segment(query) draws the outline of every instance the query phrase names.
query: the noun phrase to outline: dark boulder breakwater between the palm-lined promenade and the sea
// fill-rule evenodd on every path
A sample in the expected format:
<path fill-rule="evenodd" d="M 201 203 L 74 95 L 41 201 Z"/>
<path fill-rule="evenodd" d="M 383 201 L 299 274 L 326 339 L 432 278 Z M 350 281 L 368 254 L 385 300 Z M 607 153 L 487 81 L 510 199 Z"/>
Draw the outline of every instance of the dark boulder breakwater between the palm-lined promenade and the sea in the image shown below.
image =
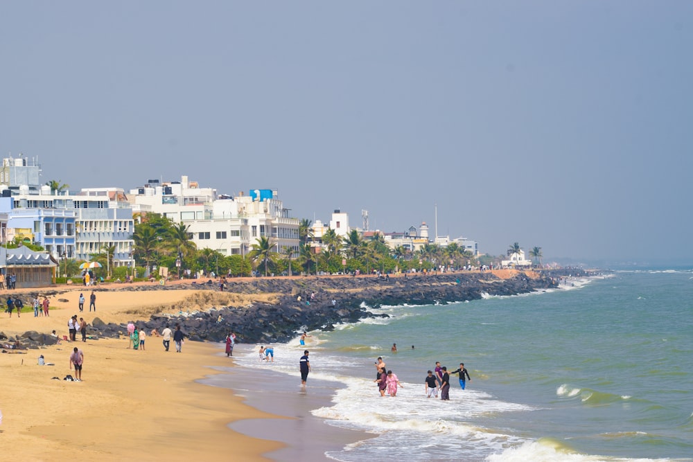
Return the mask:
<path fill-rule="evenodd" d="M 573 276 L 580 276 L 578 271 Z M 481 299 L 484 294 L 516 295 L 556 287 L 558 278 L 542 274 L 511 272 L 460 272 L 392 278 L 376 276 L 308 276 L 295 278 L 254 278 L 229 280 L 226 290 L 236 294 L 274 294 L 272 302 L 253 302 L 239 306 L 207 306 L 193 312 L 157 314 L 147 321 L 136 321 L 137 328 L 147 332 L 163 330 L 176 324 L 186 337 L 196 341 L 222 341 L 227 333 L 236 332 L 240 343 L 274 343 L 295 338 L 301 330 L 331 330 L 335 324 L 356 322 L 374 317 L 370 308 L 381 305 L 435 305 Z M 109 290 L 177 290 L 176 286 L 119 286 Z M 198 283 L 199 290 L 218 290 L 218 284 Z M 380 315 L 378 315 L 380 316 Z M 387 315 L 383 315 L 387 316 Z M 94 319 L 87 333 L 90 337 L 127 335 L 125 324 L 105 323 Z M 37 348 L 52 339 L 44 335 L 24 337 L 24 345 Z M 36 341 L 31 341 L 34 339 Z"/>

